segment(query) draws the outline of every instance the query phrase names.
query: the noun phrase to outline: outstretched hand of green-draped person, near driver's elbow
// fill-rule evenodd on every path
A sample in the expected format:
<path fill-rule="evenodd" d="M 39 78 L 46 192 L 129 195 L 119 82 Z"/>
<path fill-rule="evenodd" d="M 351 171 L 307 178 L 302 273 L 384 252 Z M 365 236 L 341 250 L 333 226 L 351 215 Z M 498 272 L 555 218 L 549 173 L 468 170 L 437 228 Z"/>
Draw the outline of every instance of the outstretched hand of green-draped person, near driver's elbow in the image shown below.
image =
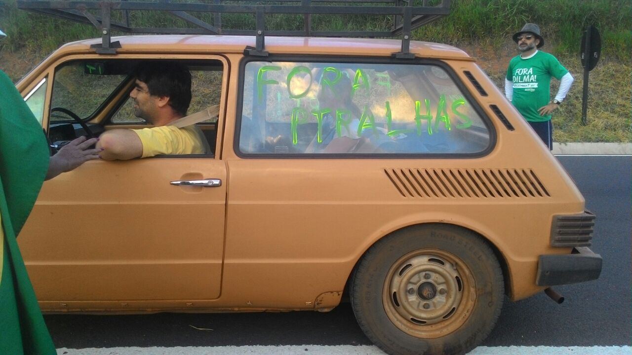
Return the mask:
<path fill-rule="evenodd" d="M 51 157 L 46 179 L 52 179 L 62 172 L 71 171 L 88 160 L 100 159 L 99 153 L 102 149 L 88 149 L 95 145 L 98 140 L 99 138 L 87 140 L 82 136 L 64 145 L 59 149 L 59 152 Z"/>

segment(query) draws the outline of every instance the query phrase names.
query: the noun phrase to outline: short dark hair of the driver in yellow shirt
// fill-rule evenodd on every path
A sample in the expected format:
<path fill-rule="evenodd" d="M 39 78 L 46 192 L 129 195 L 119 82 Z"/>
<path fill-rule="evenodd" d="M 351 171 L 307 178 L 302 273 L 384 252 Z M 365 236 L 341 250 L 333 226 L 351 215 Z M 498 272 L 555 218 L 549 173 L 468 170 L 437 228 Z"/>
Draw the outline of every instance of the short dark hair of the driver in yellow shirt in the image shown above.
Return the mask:
<path fill-rule="evenodd" d="M 173 110 L 186 116 L 191 104 L 191 73 L 185 66 L 173 61 L 143 61 L 133 75 L 147 84 L 150 95 L 169 97 Z"/>

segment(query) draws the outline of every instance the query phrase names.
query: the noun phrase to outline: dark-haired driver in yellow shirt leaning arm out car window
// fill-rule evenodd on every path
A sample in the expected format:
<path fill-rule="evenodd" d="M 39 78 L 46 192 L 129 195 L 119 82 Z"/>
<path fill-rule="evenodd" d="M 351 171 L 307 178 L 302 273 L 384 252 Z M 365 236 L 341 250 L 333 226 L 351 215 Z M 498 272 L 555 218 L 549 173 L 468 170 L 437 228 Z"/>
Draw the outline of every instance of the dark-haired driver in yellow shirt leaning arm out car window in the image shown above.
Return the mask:
<path fill-rule="evenodd" d="M 185 66 L 168 61 L 141 63 L 134 73 L 130 92 L 134 115 L 152 128 L 111 129 L 99 137 L 101 159 L 128 160 L 158 154 L 205 154 L 208 143 L 195 126 L 177 128 L 167 124 L 186 116 L 191 103 L 191 73 Z"/>

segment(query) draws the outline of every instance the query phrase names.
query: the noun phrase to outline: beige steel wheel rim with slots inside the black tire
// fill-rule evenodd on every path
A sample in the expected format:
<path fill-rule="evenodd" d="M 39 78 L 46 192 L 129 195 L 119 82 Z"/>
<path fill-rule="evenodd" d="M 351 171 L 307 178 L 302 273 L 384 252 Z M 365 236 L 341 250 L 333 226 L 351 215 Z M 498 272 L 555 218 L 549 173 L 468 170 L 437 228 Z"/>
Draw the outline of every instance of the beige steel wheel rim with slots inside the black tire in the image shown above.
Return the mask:
<path fill-rule="evenodd" d="M 391 322 L 406 334 L 424 339 L 456 331 L 477 301 L 470 268 L 438 249 L 420 249 L 399 258 L 382 290 L 382 304 Z"/>

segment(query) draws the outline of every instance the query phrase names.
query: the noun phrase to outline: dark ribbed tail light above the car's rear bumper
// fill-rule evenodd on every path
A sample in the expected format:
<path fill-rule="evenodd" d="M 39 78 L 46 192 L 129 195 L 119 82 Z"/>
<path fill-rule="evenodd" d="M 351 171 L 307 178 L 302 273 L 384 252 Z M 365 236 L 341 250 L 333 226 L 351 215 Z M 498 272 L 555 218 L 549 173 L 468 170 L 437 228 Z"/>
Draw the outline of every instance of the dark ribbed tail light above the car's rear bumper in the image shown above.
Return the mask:
<path fill-rule="evenodd" d="M 590 246 L 595 215 L 590 211 L 575 215 L 555 215 L 551 224 L 551 246 Z"/>

